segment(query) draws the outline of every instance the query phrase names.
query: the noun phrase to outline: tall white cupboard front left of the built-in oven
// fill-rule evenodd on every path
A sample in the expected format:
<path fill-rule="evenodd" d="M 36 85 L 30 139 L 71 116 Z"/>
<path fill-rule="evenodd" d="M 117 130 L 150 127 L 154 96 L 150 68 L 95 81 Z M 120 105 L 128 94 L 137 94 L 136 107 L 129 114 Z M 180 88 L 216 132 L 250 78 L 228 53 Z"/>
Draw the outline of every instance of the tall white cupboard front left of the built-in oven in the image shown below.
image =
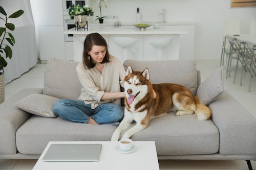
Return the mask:
<path fill-rule="evenodd" d="M 1 0 L 0 0 L 1 1 Z M 62 0 L 30 0 L 36 26 L 37 55 L 65 59 Z"/>

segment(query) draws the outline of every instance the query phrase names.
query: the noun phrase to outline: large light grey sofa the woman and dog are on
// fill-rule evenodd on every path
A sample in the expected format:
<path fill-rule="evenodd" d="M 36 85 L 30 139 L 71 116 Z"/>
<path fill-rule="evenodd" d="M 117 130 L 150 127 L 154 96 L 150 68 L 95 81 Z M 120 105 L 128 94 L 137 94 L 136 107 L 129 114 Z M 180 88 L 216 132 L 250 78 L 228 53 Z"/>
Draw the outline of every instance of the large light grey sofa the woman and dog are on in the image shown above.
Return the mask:
<path fill-rule="evenodd" d="M 0 105 L 0 159 L 37 159 L 49 141 L 111 140 L 116 125 L 73 123 L 59 116 L 33 115 L 15 106 L 32 93 L 76 99 L 81 88 L 77 64 L 49 60 L 44 89 L 24 89 Z M 194 94 L 200 85 L 200 71 L 192 60 L 127 60 L 124 65 L 132 65 L 134 70 L 148 67 L 152 83 L 179 83 Z M 208 106 L 210 120 L 199 121 L 195 114 L 169 113 L 153 119 L 132 139 L 154 140 L 159 159 L 256 160 L 255 118 L 226 91 Z"/>

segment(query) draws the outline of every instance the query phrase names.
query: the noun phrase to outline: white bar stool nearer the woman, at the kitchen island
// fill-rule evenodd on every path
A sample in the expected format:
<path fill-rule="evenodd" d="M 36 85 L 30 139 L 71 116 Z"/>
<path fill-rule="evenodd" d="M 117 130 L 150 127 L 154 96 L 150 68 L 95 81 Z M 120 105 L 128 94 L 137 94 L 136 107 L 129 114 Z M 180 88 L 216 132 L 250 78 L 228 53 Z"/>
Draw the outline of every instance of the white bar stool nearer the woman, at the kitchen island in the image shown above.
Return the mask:
<path fill-rule="evenodd" d="M 129 52 L 130 48 L 132 49 L 132 47 L 139 40 L 137 38 L 131 38 L 131 37 L 114 37 L 114 38 L 112 38 L 112 41 L 114 42 L 114 44 L 116 44 L 117 46 L 122 48 L 123 60 L 125 61 L 128 59 L 128 52 Z"/>

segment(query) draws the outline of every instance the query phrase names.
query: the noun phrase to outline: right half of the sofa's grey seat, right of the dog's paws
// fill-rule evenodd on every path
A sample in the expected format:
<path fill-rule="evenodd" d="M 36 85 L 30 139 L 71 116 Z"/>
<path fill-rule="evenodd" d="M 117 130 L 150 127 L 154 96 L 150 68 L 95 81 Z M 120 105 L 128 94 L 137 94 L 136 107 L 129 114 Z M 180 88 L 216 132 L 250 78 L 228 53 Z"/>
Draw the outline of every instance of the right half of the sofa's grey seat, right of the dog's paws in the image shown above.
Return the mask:
<path fill-rule="evenodd" d="M 151 120 L 133 140 L 154 140 L 157 155 L 214 154 L 219 150 L 219 130 L 211 120 L 198 121 L 195 114 L 169 113 Z"/>

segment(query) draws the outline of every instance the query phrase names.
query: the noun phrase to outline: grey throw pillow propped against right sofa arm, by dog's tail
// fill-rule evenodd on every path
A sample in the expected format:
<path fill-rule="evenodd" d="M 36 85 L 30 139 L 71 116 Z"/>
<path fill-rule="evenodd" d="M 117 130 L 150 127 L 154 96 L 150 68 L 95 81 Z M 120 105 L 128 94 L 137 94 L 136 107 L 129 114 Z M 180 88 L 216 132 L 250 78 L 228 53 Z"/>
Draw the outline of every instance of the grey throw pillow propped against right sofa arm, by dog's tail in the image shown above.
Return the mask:
<path fill-rule="evenodd" d="M 208 76 L 197 89 L 197 96 L 204 105 L 211 102 L 224 91 L 223 83 L 223 66 L 217 68 L 210 76 Z"/>

